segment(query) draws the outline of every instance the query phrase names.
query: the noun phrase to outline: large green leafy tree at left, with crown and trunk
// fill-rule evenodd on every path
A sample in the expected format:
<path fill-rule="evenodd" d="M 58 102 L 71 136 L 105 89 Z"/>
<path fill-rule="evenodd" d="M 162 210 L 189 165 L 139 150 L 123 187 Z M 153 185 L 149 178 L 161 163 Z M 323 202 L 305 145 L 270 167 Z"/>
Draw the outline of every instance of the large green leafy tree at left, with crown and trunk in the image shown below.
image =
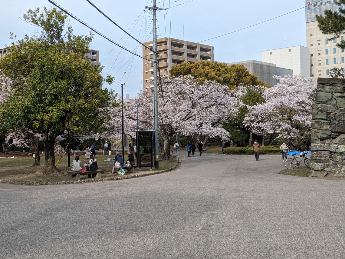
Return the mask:
<path fill-rule="evenodd" d="M 93 38 L 75 36 L 66 27 L 67 15 L 55 8 L 28 10 L 23 20 L 42 28 L 38 37 L 24 36 L 0 58 L 0 69 L 12 80 L 12 94 L 0 104 L 1 130 L 26 129 L 42 134 L 45 166 L 57 173 L 54 143 L 58 135 L 102 132 L 109 121 L 106 104 L 114 94 L 102 87 L 102 68 L 86 59 Z M 111 83 L 113 78 L 108 77 Z M 108 107 L 107 107 L 108 108 Z"/>

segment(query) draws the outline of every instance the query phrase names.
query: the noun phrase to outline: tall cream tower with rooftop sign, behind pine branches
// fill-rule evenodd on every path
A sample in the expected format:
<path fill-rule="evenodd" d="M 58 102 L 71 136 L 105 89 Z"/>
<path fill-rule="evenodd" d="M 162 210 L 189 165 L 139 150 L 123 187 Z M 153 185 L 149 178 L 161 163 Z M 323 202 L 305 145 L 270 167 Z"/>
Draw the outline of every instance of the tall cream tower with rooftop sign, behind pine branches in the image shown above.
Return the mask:
<path fill-rule="evenodd" d="M 306 0 L 307 47 L 310 50 L 310 75 L 312 77 L 328 77 L 329 69 L 345 67 L 344 49 L 336 47 L 336 43 L 345 35 L 334 40 L 332 35 L 324 35 L 317 27 L 316 15 L 324 15 L 330 9 L 337 11 L 336 0 Z"/>

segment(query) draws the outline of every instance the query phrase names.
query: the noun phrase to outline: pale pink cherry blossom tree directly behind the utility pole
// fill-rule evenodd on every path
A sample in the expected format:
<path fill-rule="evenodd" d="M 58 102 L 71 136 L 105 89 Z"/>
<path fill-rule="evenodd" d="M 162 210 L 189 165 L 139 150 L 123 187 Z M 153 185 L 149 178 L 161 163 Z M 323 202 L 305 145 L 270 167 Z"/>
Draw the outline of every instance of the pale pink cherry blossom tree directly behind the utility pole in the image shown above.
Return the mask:
<path fill-rule="evenodd" d="M 138 113 L 137 113 L 138 109 Z M 237 98 L 230 96 L 226 85 L 215 81 L 198 82 L 191 76 L 163 77 L 158 92 L 158 134 L 160 159 L 170 157 L 170 142 L 177 133 L 186 136 L 208 135 L 229 140 L 229 133 L 222 124 L 238 110 Z M 144 89 L 138 97 L 124 107 L 125 132 L 136 136 L 137 116 L 139 130 L 153 128 L 152 92 Z M 112 124 L 121 133 L 121 109 L 113 111 Z"/>

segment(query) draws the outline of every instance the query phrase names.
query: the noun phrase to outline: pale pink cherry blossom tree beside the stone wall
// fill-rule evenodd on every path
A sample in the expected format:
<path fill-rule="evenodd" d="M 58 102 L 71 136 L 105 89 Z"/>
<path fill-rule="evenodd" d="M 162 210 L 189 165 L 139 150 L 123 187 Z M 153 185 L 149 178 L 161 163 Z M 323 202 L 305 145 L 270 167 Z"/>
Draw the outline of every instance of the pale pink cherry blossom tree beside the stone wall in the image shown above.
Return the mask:
<path fill-rule="evenodd" d="M 279 83 L 267 88 L 265 103 L 247 106 L 249 112 L 244 124 L 253 133 L 279 133 L 276 139 L 289 140 L 310 138 L 311 110 L 316 84 L 310 77 L 287 75 L 275 76 Z"/>

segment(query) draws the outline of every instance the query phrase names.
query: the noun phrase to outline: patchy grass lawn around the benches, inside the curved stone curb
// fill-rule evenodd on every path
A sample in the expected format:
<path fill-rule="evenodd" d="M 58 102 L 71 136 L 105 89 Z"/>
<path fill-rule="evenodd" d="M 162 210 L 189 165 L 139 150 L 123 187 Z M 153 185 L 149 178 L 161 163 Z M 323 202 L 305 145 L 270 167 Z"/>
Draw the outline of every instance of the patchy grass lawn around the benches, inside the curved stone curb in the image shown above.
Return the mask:
<path fill-rule="evenodd" d="M 5 156 L 5 155 L 2 155 Z M 6 155 L 6 157 L 12 156 Z M 16 156 L 16 155 L 14 155 Z M 109 177 L 116 177 L 118 175 L 109 175 L 112 170 L 112 165 L 114 161 L 104 161 L 108 157 L 114 158 L 114 155 L 111 156 L 103 156 L 103 155 L 96 155 L 96 160 L 99 169 L 105 169 L 105 173 L 101 174 L 101 178 L 109 178 Z M 125 161 L 127 160 L 128 156 L 125 154 Z M 55 157 L 55 162 L 57 162 L 59 156 Z M 75 156 L 71 156 L 71 164 L 72 161 L 75 159 Z M 85 163 L 85 155 L 81 156 L 82 164 Z M 152 171 L 161 171 L 165 169 L 169 169 L 174 166 L 177 162 L 175 156 L 171 156 L 170 160 L 168 161 L 159 161 L 159 169 L 152 169 Z M 0 180 L 11 180 L 11 181 L 19 181 L 19 182 L 61 182 L 61 181 L 70 181 L 71 177 L 67 175 L 67 171 L 70 170 L 67 167 L 67 156 L 63 156 L 57 165 L 57 169 L 60 170 L 60 176 L 53 176 L 53 175 L 36 175 L 35 172 L 43 167 L 44 165 L 44 157 L 40 157 L 40 164 L 41 166 L 32 167 L 34 163 L 33 157 L 17 157 L 17 158 L 6 158 L 0 159 Z M 147 171 L 151 171 L 150 168 L 141 168 L 139 170 L 134 170 L 134 173 L 129 174 L 126 173 L 125 175 L 133 175 L 133 174 L 140 174 L 145 173 Z M 81 179 L 87 179 L 88 175 L 81 175 Z"/>

